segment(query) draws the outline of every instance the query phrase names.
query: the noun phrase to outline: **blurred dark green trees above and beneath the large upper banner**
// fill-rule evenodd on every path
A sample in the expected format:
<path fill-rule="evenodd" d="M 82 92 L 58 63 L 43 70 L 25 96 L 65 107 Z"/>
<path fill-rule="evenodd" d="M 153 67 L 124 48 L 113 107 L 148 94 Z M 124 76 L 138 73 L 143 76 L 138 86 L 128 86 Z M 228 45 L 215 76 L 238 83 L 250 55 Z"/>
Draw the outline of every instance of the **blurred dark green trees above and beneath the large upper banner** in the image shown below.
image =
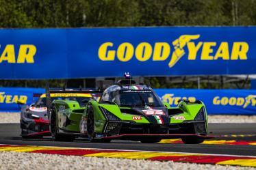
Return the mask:
<path fill-rule="evenodd" d="M 255 0 L 0 0 L 0 28 L 256 25 Z M 154 87 L 172 87 L 152 79 Z M 44 81 L 0 86 L 41 87 Z M 56 81 L 63 84 L 62 81 Z M 29 83 L 29 85 L 27 85 Z M 164 86 L 163 86 L 164 85 Z M 185 87 L 194 87 L 190 83 Z M 219 88 L 220 85 L 214 85 Z M 202 88 L 209 85 L 202 84 Z"/>

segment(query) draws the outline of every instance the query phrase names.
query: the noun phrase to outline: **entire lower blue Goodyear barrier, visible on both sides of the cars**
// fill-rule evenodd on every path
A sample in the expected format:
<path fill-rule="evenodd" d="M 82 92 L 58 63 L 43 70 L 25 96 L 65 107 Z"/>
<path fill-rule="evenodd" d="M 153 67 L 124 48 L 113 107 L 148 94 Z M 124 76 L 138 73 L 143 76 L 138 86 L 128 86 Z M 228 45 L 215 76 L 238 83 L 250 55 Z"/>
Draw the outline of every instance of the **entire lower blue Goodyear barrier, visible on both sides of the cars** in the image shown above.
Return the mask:
<path fill-rule="evenodd" d="M 175 107 L 180 99 L 202 100 L 211 114 L 256 115 L 256 90 L 238 89 L 155 89 L 159 97 Z M 0 112 L 19 111 L 17 100 L 33 103 L 34 93 L 44 93 L 36 88 L 0 87 Z"/>

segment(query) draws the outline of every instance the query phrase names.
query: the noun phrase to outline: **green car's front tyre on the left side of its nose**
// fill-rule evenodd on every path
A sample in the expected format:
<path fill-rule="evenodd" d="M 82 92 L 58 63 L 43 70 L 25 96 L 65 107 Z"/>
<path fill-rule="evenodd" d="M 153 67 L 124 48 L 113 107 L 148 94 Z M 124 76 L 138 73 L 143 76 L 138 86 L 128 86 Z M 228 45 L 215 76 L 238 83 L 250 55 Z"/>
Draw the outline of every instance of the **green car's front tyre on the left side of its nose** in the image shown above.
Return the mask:
<path fill-rule="evenodd" d="M 110 143 L 111 139 L 95 139 L 95 132 L 94 132 L 94 113 L 92 105 L 88 106 L 88 117 L 87 117 L 87 132 L 88 138 L 90 142 L 94 143 Z"/>

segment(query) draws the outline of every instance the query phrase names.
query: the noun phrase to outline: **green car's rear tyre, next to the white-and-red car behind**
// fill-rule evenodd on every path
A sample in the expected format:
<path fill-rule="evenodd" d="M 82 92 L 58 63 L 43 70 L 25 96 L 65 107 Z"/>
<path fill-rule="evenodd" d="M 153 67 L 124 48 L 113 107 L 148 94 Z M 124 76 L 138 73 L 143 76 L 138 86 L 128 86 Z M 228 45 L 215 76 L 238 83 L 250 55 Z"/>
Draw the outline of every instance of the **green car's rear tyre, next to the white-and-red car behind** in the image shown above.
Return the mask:
<path fill-rule="evenodd" d="M 50 119 L 50 130 L 51 130 L 51 137 L 54 141 L 67 141 L 71 142 L 75 140 L 74 136 L 66 135 L 66 134 L 59 134 L 57 131 L 57 121 L 56 121 L 56 113 L 53 109 L 51 109 L 51 119 Z"/>

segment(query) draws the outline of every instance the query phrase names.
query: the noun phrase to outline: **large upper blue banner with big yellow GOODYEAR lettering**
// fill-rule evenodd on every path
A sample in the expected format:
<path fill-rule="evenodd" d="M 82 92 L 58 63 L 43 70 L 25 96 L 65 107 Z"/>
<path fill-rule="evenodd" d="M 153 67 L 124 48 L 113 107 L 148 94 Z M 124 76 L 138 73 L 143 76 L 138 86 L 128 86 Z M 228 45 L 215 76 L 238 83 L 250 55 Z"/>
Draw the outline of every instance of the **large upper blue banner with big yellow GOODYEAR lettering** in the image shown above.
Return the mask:
<path fill-rule="evenodd" d="M 256 74 L 256 27 L 1 29 L 0 79 Z"/>

